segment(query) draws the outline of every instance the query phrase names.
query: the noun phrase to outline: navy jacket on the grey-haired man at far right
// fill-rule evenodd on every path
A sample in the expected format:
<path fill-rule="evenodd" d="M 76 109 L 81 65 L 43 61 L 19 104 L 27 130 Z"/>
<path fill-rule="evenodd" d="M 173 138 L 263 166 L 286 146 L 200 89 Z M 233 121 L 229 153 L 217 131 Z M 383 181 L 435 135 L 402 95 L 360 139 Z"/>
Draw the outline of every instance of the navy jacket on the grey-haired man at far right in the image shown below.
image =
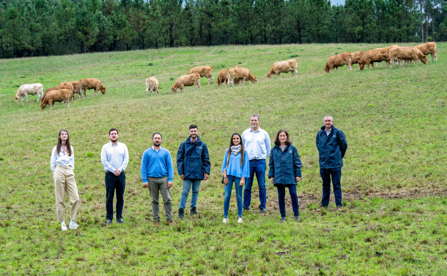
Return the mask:
<path fill-rule="evenodd" d="M 318 149 L 320 168 L 336 168 L 343 166 L 343 157 L 345 156 L 348 143 L 343 131 L 331 127 L 331 134 L 326 135 L 324 125 L 318 131 L 315 139 Z"/>

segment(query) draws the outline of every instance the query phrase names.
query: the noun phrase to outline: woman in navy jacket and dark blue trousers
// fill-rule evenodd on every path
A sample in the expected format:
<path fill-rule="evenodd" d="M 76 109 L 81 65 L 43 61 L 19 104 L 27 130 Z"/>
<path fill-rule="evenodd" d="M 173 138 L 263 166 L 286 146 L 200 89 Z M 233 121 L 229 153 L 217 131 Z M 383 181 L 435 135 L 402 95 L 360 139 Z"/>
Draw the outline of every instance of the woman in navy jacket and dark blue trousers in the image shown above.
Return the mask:
<path fill-rule="evenodd" d="M 289 187 L 295 220 L 299 221 L 297 183 L 301 180 L 301 166 L 297 148 L 290 142 L 289 132 L 280 129 L 276 134 L 275 146 L 270 152 L 269 162 L 270 182 L 278 189 L 280 222 L 286 221 L 286 187 Z"/>

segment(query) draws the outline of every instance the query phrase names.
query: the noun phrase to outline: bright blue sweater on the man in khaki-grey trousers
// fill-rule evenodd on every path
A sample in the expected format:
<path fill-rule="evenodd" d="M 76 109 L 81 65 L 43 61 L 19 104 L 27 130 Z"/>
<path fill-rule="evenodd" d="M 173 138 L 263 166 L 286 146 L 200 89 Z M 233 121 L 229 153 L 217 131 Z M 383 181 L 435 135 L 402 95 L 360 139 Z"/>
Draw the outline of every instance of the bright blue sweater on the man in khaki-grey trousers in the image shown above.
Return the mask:
<path fill-rule="evenodd" d="M 171 154 L 168 150 L 160 148 L 158 152 L 150 147 L 143 153 L 141 160 L 141 178 L 143 183 L 148 182 L 148 177 L 165 177 L 172 182 L 174 178 L 174 167 L 172 166 Z"/>

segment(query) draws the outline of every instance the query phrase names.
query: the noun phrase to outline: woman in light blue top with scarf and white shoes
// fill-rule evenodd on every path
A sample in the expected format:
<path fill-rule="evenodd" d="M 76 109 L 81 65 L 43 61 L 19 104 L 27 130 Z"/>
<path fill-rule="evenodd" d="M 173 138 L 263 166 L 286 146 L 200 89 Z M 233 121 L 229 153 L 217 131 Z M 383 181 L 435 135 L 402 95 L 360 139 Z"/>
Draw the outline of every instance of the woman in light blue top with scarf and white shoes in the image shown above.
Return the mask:
<path fill-rule="evenodd" d="M 248 164 L 248 153 L 244 151 L 242 137 L 239 133 L 233 133 L 230 139 L 229 148 L 226 149 L 224 163 L 225 198 L 224 198 L 224 223 L 228 222 L 228 208 L 231 198 L 231 190 L 236 190 L 238 223 L 242 223 L 242 191 L 244 189 L 244 178 L 250 176 L 250 166 Z"/>

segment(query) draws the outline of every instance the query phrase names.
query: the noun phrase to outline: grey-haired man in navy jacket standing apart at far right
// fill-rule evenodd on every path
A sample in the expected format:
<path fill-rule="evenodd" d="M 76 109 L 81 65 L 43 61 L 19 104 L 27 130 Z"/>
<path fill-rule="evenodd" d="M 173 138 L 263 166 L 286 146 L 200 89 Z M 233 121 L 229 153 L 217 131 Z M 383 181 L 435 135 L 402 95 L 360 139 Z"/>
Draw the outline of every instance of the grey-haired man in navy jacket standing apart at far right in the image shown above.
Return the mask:
<path fill-rule="evenodd" d="M 329 204 L 329 196 L 331 194 L 331 179 L 334 186 L 335 204 L 337 211 L 342 210 L 342 193 L 340 186 L 341 168 L 343 166 L 343 157 L 345 156 L 348 144 L 343 131 L 334 126 L 334 120 L 330 115 L 324 116 L 324 125 L 316 136 L 316 146 L 319 155 L 320 175 L 323 180 L 323 197 L 321 206 L 316 212 L 320 212 L 321 208 L 327 207 Z"/>

